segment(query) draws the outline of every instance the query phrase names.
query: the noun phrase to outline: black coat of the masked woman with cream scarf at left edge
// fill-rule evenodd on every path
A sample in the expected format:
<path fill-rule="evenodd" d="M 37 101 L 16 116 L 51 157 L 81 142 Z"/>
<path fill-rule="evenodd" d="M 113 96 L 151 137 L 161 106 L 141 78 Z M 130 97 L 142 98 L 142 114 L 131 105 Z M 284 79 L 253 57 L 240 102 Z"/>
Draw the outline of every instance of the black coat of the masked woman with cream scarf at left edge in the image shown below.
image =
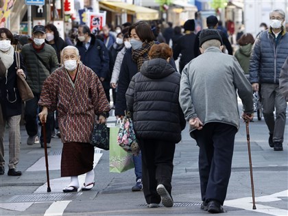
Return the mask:
<path fill-rule="evenodd" d="M 16 57 L 14 53 L 14 62 L 8 69 L 7 77 L 0 78 L 0 103 L 3 118 L 13 117 L 15 115 L 21 115 L 22 113 L 22 100 L 19 95 L 16 82 Z M 23 58 L 20 53 L 21 69 L 26 73 L 26 68 L 23 62 Z M 6 82 L 7 81 L 7 82 Z"/>

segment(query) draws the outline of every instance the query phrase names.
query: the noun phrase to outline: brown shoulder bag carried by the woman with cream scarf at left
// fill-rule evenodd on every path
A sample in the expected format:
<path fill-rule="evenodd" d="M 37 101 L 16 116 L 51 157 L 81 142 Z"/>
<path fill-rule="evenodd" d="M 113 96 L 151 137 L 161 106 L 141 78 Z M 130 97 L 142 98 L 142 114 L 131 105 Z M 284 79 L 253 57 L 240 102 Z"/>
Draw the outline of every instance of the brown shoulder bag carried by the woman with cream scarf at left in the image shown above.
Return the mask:
<path fill-rule="evenodd" d="M 15 52 L 15 53 L 16 53 L 16 67 L 17 69 L 21 69 L 20 54 L 19 52 Z M 29 101 L 30 99 L 34 98 L 31 88 L 29 87 L 26 80 L 21 74 L 17 74 L 16 82 L 17 82 L 17 88 L 19 90 L 19 94 L 20 94 L 22 101 Z"/>

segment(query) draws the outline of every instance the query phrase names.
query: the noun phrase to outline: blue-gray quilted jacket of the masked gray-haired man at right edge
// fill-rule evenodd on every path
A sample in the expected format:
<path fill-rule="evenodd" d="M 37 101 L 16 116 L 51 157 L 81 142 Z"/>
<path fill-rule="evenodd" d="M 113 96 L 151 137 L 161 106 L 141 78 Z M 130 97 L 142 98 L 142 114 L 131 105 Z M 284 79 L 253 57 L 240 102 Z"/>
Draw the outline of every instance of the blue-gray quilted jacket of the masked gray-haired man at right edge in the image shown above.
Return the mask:
<path fill-rule="evenodd" d="M 288 56 L 288 34 L 275 39 L 271 29 L 256 38 L 250 57 L 250 82 L 279 84 L 280 69 Z"/>

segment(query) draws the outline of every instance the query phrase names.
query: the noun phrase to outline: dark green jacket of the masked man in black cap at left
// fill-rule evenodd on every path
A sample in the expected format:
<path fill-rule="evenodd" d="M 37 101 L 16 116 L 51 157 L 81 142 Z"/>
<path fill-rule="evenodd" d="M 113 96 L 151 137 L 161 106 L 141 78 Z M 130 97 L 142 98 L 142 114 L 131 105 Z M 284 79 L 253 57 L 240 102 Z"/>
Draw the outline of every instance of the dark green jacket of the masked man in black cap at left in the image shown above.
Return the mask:
<path fill-rule="evenodd" d="M 36 53 L 32 44 L 27 44 L 23 46 L 21 54 L 27 69 L 27 83 L 33 93 L 41 93 L 43 82 L 58 68 L 55 49 L 45 44 L 43 49 Z"/>

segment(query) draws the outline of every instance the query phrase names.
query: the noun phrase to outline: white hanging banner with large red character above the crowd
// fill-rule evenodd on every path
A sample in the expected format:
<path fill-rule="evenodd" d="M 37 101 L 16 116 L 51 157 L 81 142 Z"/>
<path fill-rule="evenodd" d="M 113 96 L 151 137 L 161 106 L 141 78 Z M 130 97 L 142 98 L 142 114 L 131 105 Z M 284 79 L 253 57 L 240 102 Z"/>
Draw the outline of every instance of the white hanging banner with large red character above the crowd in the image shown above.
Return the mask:
<path fill-rule="evenodd" d="M 92 34 L 97 34 L 106 25 L 106 11 L 100 13 L 86 12 L 86 25 Z"/>

